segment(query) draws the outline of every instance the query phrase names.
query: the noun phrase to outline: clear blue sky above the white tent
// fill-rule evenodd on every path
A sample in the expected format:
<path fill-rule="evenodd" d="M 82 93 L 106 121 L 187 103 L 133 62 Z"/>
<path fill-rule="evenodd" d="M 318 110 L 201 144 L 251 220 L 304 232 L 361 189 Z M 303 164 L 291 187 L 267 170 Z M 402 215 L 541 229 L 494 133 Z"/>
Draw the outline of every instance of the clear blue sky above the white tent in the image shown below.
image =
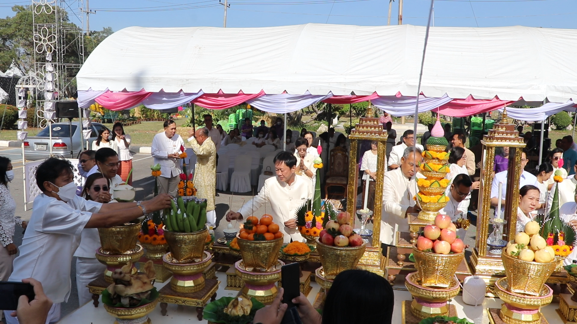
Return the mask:
<path fill-rule="evenodd" d="M 398 1 L 392 5 L 391 24 L 397 24 Z M 77 9 L 77 1 L 67 2 L 71 8 Z M 274 4 L 278 2 L 290 4 Z M 303 2 L 317 4 L 299 4 Z M 10 6 L 15 3 L 28 4 L 31 1 L 0 0 L 0 17 L 12 16 Z M 268 27 L 307 22 L 386 25 L 389 0 L 230 0 L 228 3 L 231 7 L 227 13 L 227 27 Z M 429 0 L 404 0 L 403 5 L 403 24 L 426 24 Z M 222 27 L 223 24 L 223 6 L 218 5 L 218 0 L 90 0 L 90 7 L 96 10 L 96 14 L 90 17 L 91 30 L 112 27 L 118 31 L 129 26 Z M 182 9 L 190 7 L 193 8 Z M 166 9 L 171 10 L 145 11 Z M 78 10 L 75 11 L 78 14 Z M 72 12 L 70 17 L 80 24 Z M 576 28 L 576 21 L 577 0 L 437 0 L 434 6 L 436 26 Z"/>

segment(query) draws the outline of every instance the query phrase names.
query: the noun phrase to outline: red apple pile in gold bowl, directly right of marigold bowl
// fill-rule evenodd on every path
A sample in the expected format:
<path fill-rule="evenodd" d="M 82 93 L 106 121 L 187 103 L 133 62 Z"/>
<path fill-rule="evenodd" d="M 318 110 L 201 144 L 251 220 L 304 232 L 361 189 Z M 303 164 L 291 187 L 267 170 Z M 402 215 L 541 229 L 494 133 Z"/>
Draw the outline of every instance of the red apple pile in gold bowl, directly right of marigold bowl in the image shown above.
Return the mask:
<path fill-rule="evenodd" d="M 350 219 L 351 214 L 347 212 L 336 214 L 336 221 L 329 220 L 327 226 L 319 233 L 319 242 L 338 247 L 361 246 L 365 242 L 361 235 L 353 231 L 353 227 L 349 224 Z"/>

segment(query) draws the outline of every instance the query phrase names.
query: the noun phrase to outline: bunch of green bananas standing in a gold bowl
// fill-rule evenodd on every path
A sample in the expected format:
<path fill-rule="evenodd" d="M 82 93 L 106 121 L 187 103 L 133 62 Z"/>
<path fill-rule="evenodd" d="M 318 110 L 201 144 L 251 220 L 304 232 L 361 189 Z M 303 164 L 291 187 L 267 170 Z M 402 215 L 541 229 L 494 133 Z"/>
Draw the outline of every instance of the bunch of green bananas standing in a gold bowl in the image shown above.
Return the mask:
<path fill-rule="evenodd" d="M 164 225 L 169 232 L 192 233 L 204 229 L 207 223 L 207 199 L 184 202 L 178 197 L 172 208 L 164 210 Z"/>

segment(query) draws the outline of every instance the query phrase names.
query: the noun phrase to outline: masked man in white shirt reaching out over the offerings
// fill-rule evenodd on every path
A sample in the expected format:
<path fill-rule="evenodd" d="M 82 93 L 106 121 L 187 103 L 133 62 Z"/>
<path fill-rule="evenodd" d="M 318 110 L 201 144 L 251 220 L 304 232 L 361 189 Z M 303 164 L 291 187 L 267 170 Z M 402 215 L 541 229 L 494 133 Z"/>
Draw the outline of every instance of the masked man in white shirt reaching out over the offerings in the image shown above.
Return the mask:
<path fill-rule="evenodd" d="M 102 204 L 76 195 L 72 164 L 50 157 L 36 169 L 36 184 L 42 193 L 34 199 L 30 228 L 24 233 L 20 256 L 14 259 L 9 281 L 36 278 L 53 300 L 46 323 L 60 318 L 60 304 L 70 295 L 70 265 L 80 245 L 84 228 L 121 225 L 137 217 L 170 207 L 168 194 L 148 201 Z M 18 320 L 4 311 L 6 324 Z"/>

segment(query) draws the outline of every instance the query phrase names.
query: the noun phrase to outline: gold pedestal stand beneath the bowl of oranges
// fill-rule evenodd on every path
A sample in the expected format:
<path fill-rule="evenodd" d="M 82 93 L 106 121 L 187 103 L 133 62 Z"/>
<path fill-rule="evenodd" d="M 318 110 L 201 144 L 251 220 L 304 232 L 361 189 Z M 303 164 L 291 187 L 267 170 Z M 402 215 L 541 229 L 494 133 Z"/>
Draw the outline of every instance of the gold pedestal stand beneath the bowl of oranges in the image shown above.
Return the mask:
<path fill-rule="evenodd" d="M 254 297 L 265 305 L 272 304 L 279 292 L 276 282 L 280 280 L 280 268 L 283 265 L 284 262 L 279 260 L 269 272 L 253 272 L 252 269 L 249 271 L 245 268 L 242 260 L 238 261 L 234 264 L 235 273 L 245 283 L 238 295 L 247 298 Z"/>

